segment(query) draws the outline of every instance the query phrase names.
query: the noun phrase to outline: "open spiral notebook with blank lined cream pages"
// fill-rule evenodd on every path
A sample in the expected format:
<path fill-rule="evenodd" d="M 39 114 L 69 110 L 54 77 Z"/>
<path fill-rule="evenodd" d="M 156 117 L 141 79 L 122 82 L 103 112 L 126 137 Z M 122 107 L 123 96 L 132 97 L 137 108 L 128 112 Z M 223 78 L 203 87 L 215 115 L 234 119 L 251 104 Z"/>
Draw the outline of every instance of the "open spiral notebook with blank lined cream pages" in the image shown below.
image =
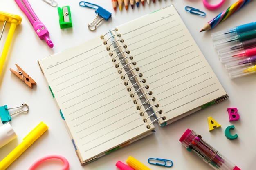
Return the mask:
<path fill-rule="evenodd" d="M 173 5 L 38 63 L 82 165 L 228 98 Z"/>

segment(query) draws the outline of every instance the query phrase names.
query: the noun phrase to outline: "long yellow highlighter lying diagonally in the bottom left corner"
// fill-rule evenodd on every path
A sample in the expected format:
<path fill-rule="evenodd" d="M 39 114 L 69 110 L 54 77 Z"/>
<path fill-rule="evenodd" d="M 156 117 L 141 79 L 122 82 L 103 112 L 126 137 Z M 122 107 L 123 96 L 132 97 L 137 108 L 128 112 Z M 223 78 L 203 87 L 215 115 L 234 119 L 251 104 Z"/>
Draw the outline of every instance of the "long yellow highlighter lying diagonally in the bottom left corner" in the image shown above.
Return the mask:
<path fill-rule="evenodd" d="M 48 129 L 48 126 L 42 121 L 23 138 L 23 141 L 14 148 L 2 161 L 0 161 L 0 170 L 5 170 L 13 161 L 15 161 L 31 144 L 36 141 Z"/>

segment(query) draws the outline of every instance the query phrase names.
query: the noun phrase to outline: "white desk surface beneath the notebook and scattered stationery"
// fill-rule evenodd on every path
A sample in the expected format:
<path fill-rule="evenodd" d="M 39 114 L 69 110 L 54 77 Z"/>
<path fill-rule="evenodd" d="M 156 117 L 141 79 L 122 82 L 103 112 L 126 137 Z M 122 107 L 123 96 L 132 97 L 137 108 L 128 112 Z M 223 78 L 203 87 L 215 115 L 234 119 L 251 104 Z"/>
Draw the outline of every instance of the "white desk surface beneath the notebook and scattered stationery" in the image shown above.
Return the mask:
<path fill-rule="evenodd" d="M 116 13 L 112 8 L 110 0 L 88 0 L 97 4 L 112 13 L 112 18 L 107 22 L 104 20 L 97 27 L 97 31 L 88 30 L 87 24 L 90 23 L 95 13 L 93 9 L 80 7 L 78 0 L 56 0 L 58 6 L 70 6 L 73 27 L 60 29 L 58 22 L 58 11 L 56 7 L 51 7 L 42 0 L 29 0 L 31 7 L 36 15 L 45 24 L 50 33 L 50 39 L 54 43 L 50 49 L 44 40 L 40 40 L 34 32 L 29 20 L 19 9 L 14 0 L 1 0 L 0 11 L 20 15 L 22 23 L 17 26 L 11 46 L 7 55 L 4 69 L 0 78 L 0 106 L 7 105 L 8 108 L 20 106 L 22 103 L 29 105 L 29 113 L 21 113 L 13 116 L 11 126 L 18 137 L 9 144 L 0 148 L 0 160 L 2 160 L 13 148 L 15 148 L 22 138 L 27 135 L 40 121 L 43 121 L 49 130 L 45 132 L 34 144 L 32 144 L 18 159 L 16 159 L 8 170 L 25 170 L 29 166 L 45 155 L 63 155 L 70 163 L 70 170 L 118 170 L 115 163 L 120 160 L 125 162 L 129 155 L 135 157 L 152 170 L 208 170 L 211 169 L 204 161 L 198 159 L 194 153 L 186 151 L 179 139 L 183 132 L 189 128 L 216 148 L 222 155 L 235 163 L 242 170 L 252 170 L 252 161 L 256 161 L 256 74 L 245 77 L 230 79 L 224 66 L 218 60 L 218 55 L 213 48 L 211 33 L 233 26 L 255 22 L 256 1 L 252 1 L 227 20 L 216 26 L 211 31 L 199 33 L 202 26 L 217 14 L 229 7 L 236 0 L 227 0 L 220 9 L 210 11 L 204 8 L 202 0 L 156 0 L 150 5 L 146 3 L 144 7 L 140 4 L 139 8 L 133 10 L 129 6 L 128 11 L 124 9 Z M 219 0 L 218 0 L 219 1 Z M 210 1 L 215 3 L 215 1 Z M 43 77 L 37 61 L 75 46 L 81 42 L 94 38 L 105 33 L 108 29 L 123 24 L 140 16 L 146 15 L 167 5 L 174 4 L 180 13 L 189 31 L 195 38 L 198 46 L 205 55 L 207 61 L 213 68 L 229 99 L 200 110 L 197 113 L 180 119 L 166 127 L 159 128 L 155 124 L 155 134 L 136 141 L 124 148 L 111 152 L 86 166 L 81 166 L 74 146 L 65 129 L 60 117 L 58 108 L 55 105 L 52 94 L 49 91 L 45 78 Z M 185 11 L 185 6 L 191 6 L 206 12 L 205 17 L 193 15 Z M 1 23 L 2 29 L 2 23 Z M 3 40 L 2 40 L 3 41 Z M 2 43 L 1 41 L 1 43 Z M 18 64 L 26 73 L 32 77 L 37 85 L 33 89 L 24 84 L 16 77 L 9 68 L 18 70 Z M 236 107 L 240 114 L 238 121 L 229 122 L 227 108 Z M 11 111 L 11 110 L 10 110 Z M 209 132 L 207 118 L 211 116 L 221 127 Z M 229 140 L 224 135 L 227 126 L 234 125 L 235 129 L 231 134 L 237 133 L 238 138 Z M 171 159 L 173 167 L 165 168 L 148 164 L 149 157 Z M 58 165 L 41 166 L 40 170 L 59 169 Z"/>

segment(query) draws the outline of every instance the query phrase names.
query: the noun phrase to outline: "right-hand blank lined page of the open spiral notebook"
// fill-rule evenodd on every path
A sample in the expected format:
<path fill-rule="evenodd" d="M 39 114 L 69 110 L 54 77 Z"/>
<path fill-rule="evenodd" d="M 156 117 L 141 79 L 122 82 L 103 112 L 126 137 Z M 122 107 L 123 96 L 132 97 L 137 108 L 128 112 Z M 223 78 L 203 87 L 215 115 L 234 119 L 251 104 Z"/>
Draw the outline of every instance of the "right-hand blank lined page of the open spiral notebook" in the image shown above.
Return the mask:
<path fill-rule="evenodd" d="M 226 95 L 173 5 L 117 29 L 167 124 Z"/>

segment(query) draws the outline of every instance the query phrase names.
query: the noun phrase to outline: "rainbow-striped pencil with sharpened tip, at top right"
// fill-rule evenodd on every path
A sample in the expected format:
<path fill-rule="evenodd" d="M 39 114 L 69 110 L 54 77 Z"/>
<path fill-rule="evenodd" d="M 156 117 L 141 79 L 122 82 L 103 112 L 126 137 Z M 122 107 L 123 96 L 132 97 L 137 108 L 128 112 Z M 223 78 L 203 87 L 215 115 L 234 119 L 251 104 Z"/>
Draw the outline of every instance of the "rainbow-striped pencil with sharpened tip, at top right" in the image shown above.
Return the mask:
<path fill-rule="evenodd" d="M 219 15 L 217 15 L 215 18 L 213 18 L 211 21 L 207 22 L 207 24 L 204 25 L 204 27 L 201 29 L 202 31 L 207 31 L 210 29 L 213 29 L 215 26 L 217 26 L 220 22 L 226 20 L 230 15 L 241 9 L 243 6 L 251 2 L 252 0 L 238 0 L 234 4 L 232 4 L 230 7 L 228 7 L 226 10 L 222 11 Z"/>

